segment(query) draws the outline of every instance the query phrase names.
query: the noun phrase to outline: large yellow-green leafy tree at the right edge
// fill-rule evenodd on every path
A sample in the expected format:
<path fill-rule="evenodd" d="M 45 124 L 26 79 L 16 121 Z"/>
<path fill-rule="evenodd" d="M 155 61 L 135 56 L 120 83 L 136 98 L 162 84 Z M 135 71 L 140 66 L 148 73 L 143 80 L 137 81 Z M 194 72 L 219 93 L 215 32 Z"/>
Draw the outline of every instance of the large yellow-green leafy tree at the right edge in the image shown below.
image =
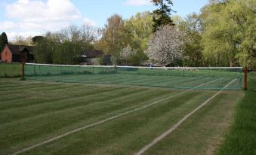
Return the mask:
<path fill-rule="evenodd" d="M 202 9 L 203 54 L 210 65 L 250 65 L 256 42 L 254 0 L 211 0 Z"/>

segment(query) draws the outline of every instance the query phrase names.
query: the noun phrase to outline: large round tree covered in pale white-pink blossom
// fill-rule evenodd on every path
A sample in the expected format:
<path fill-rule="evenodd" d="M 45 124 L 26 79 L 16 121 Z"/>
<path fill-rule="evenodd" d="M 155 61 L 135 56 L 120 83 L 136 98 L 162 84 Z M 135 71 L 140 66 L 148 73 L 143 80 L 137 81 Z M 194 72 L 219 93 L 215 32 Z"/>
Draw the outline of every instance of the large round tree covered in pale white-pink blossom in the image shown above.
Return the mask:
<path fill-rule="evenodd" d="M 147 56 L 154 65 L 168 65 L 182 59 L 184 32 L 174 26 L 161 26 L 149 40 Z"/>

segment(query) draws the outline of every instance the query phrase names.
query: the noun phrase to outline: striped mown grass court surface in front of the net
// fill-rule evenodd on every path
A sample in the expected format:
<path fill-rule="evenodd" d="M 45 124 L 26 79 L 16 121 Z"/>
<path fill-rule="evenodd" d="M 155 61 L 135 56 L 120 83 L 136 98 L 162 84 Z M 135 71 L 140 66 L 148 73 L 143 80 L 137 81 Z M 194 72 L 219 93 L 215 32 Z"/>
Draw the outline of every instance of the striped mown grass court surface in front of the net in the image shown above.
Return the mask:
<path fill-rule="evenodd" d="M 227 82 L 228 83 L 228 82 Z M 184 90 L 0 79 L 0 154 L 10 154 Z M 218 90 L 193 90 L 24 154 L 133 154 Z M 236 96 L 236 99 L 233 99 Z M 224 91 L 145 154 L 213 152 L 241 90 Z"/>

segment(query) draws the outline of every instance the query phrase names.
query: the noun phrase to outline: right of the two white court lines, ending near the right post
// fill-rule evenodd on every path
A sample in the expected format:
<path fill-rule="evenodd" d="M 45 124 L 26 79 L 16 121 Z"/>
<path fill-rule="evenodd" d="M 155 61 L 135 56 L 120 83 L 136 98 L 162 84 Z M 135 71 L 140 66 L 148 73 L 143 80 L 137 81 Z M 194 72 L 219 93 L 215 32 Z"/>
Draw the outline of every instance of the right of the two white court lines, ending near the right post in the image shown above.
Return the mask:
<path fill-rule="evenodd" d="M 219 95 L 226 87 L 228 87 L 230 84 L 232 84 L 236 79 L 231 81 L 229 84 L 227 84 L 222 90 L 218 91 L 217 93 L 214 94 L 214 96 L 211 96 L 211 98 L 207 99 L 205 102 L 202 103 L 202 105 L 199 105 L 196 109 L 190 112 L 190 114 L 187 114 L 184 116 L 181 120 L 179 120 L 177 123 L 174 124 L 174 126 L 171 126 L 170 129 L 168 129 L 166 132 L 163 132 L 161 135 L 156 137 L 153 141 L 150 142 L 150 144 L 147 144 L 143 148 L 141 148 L 137 153 L 134 155 L 141 155 L 144 153 L 146 150 L 148 150 L 150 147 L 152 147 L 154 144 L 157 142 L 161 141 L 163 138 L 165 138 L 167 135 L 169 135 L 171 132 L 173 132 L 175 129 L 177 129 L 178 126 L 180 126 L 181 123 L 183 123 L 185 120 L 187 120 L 188 117 L 193 115 L 196 111 L 198 111 L 200 108 L 202 108 L 204 105 L 206 105 L 211 99 L 214 99 L 215 96 Z"/>

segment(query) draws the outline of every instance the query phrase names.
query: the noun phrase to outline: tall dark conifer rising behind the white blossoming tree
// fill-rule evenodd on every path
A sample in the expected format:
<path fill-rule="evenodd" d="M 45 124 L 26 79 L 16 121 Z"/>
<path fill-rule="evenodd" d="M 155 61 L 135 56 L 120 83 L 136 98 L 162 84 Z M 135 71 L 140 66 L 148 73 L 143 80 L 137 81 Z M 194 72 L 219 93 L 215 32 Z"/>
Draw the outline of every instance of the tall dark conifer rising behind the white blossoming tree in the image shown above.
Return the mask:
<path fill-rule="evenodd" d="M 171 0 L 152 0 L 153 5 L 159 7 L 153 11 L 153 32 L 159 29 L 159 26 L 174 25 L 171 20 L 171 6 L 173 5 Z"/>

